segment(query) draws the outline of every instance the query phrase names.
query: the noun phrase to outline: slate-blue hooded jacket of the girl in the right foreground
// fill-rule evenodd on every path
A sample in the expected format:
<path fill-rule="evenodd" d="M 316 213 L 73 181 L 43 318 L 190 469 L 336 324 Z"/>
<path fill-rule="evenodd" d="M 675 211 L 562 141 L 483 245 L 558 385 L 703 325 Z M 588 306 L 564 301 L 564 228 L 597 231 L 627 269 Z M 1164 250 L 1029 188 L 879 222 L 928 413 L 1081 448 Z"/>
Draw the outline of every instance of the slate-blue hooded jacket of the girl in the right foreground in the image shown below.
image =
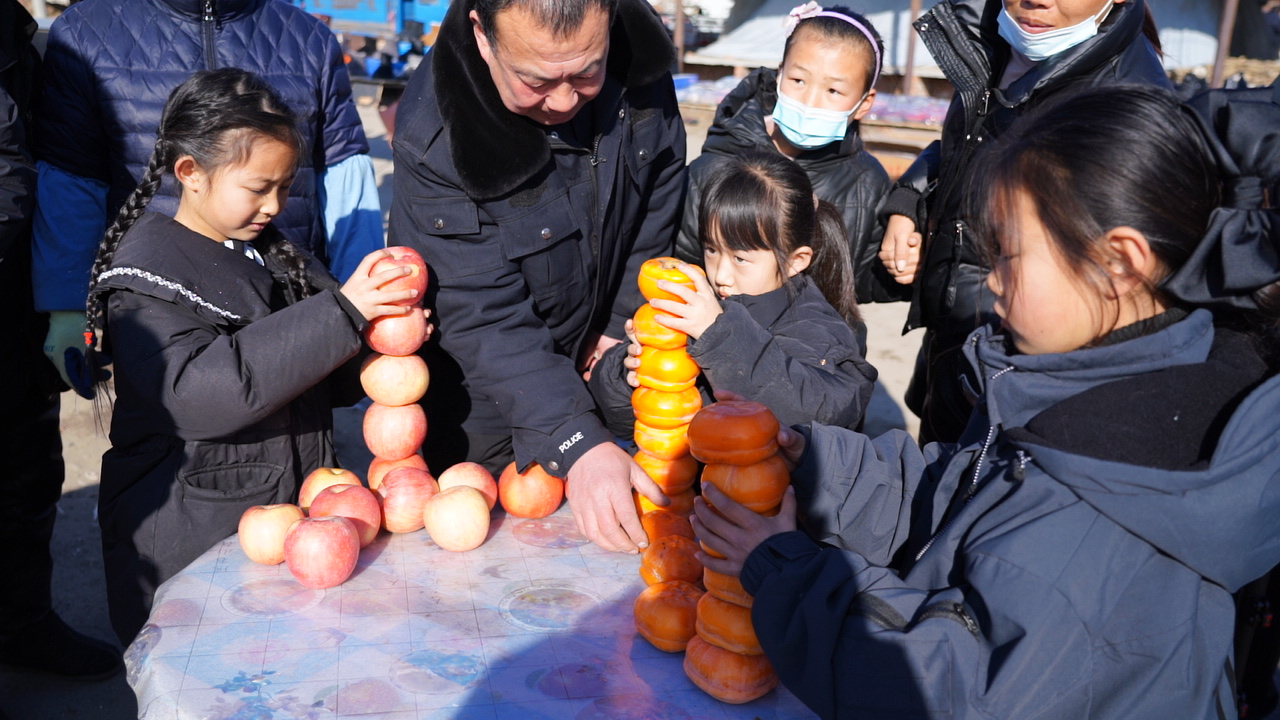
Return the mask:
<path fill-rule="evenodd" d="M 783 683 L 823 717 L 1234 717 L 1231 593 L 1280 560 L 1280 378 L 1204 310 L 966 352 L 959 446 L 808 430 L 808 534 L 742 571 Z"/>

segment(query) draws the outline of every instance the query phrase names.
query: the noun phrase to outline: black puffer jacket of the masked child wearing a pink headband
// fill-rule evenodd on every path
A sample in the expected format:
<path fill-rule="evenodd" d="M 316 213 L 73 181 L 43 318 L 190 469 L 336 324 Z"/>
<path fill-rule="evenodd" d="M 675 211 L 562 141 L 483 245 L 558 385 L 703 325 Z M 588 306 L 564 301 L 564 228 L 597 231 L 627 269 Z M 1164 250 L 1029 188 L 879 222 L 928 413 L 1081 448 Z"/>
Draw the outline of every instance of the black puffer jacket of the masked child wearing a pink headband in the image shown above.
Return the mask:
<path fill-rule="evenodd" d="M 773 114 L 778 101 L 778 72 L 758 68 L 742 78 L 716 108 L 716 119 L 707 131 L 703 154 L 689 164 L 689 193 L 685 215 L 676 237 L 676 256 L 695 265 L 703 264 L 703 243 L 698 237 L 701 188 L 726 160 L 745 150 L 777 152 L 764 127 L 764 117 Z M 858 123 L 850 126 L 844 142 L 806 150 L 796 159 L 813 183 L 819 199 L 840 210 L 849 232 L 850 258 L 858 283 L 859 302 L 891 302 L 908 300 L 909 288 L 892 282 L 879 261 L 879 241 L 884 234 L 877 211 L 890 190 L 888 174 L 863 147 Z"/>

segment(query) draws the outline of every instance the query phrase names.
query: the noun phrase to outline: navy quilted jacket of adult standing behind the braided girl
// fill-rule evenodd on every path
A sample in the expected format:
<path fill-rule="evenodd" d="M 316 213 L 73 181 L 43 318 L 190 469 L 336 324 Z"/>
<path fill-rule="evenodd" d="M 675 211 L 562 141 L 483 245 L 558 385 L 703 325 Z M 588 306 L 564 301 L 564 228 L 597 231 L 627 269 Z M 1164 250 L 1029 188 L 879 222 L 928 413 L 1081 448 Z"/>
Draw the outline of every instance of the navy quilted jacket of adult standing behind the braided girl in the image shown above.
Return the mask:
<path fill-rule="evenodd" d="M 261 76 L 298 117 L 303 147 L 285 237 L 325 258 L 317 173 L 369 152 L 333 32 L 282 0 L 84 0 L 54 23 L 45 51 L 40 159 L 108 186 L 109 218 L 146 172 L 169 92 L 191 73 L 237 67 Z M 169 217 L 166 177 L 150 209 Z"/>

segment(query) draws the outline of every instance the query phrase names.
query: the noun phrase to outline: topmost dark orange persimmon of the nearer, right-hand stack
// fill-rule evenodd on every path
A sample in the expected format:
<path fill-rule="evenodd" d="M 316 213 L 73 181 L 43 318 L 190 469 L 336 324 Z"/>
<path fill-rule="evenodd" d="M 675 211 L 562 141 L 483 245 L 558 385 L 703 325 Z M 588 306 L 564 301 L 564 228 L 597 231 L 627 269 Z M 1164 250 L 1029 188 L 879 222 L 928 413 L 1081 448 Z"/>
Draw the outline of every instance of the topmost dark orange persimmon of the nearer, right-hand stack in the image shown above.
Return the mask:
<path fill-rule="evenodd" d="M 689 446 L 703 462 L 751 465 L 778 450 L 778 419 L 751 400 L 722 400 L 689 423 Z"/>

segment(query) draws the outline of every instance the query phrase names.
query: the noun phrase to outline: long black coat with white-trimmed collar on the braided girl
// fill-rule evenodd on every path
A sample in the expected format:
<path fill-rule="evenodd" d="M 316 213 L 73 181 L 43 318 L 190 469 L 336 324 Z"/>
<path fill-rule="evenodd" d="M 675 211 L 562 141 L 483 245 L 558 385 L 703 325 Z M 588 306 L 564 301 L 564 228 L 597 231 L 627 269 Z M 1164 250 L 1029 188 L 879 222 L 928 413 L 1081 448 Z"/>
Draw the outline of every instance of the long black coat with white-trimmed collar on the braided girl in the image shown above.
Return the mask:
<path fill-rule="evenodd" d="M 147 213 L 99 275 L 116 392 L 99 521 L 125 644 L 155 588 L 236 533 L 244 509 L 293 502 L 307 473 L 334 465 L 325 378 L 360 352 L 364 318 L 311 268 L 329 290 L 288 305 L 255 260 Z M 339 387 L 358 388 L 355 370 Z"/>

